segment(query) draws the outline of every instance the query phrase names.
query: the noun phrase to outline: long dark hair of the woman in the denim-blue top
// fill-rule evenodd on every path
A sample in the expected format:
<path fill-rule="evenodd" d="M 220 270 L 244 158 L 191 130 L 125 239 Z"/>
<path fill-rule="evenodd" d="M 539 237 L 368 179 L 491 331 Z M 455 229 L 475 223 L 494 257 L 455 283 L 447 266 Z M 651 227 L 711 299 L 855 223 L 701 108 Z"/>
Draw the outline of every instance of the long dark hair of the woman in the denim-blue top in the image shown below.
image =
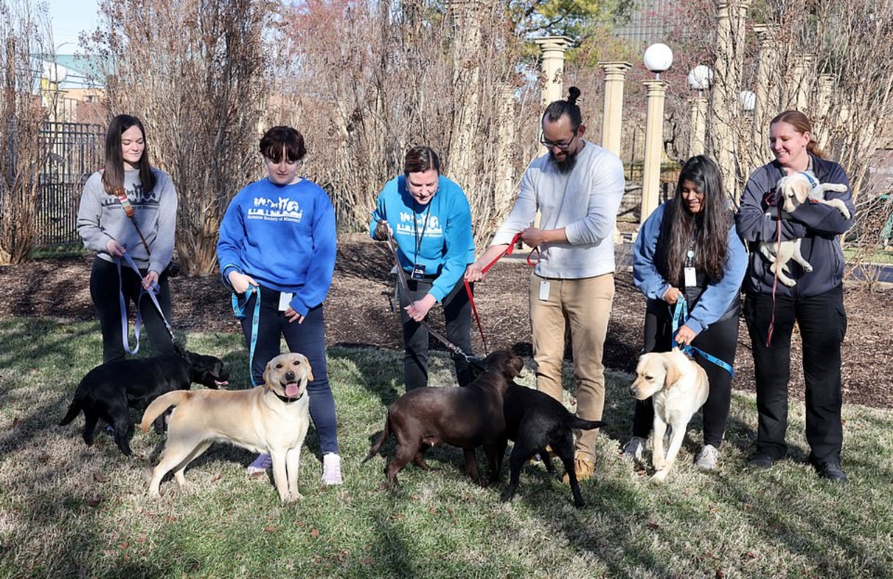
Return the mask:
<path fill-rule="evenodd" d="M 703 209 L 689 211 L 682 198 L 682 184 L 690 180 L 704 194 Z M 729 253 L 731 212 L 719 169 L 705 155 L 691 157 L 679 173 L 676 194 L 667 201 L 660 237 L 655 251 L 657 271 L 673 286 L 681 287 L 686 254 L 694 240 L 694 265 L 709 281 L 722 280 L 723 266 Z"/>

